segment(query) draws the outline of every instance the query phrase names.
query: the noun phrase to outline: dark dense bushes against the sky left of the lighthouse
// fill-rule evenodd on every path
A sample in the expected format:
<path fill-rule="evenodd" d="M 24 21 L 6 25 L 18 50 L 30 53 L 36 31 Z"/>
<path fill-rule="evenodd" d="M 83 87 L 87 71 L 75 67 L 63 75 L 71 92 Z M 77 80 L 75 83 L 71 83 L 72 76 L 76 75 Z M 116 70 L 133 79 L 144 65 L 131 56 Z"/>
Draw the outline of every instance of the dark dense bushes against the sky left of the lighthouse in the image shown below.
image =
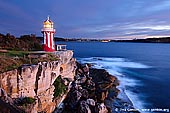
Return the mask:
<path fill-rule="evenodd" d="M 33 51 L 42 50 L 41 40 L 35 35 L 23 35 L 20 38 L 15 38 L 7 33 L 0 34 L 0 49 L 15 50 L 15 51 Z"/>

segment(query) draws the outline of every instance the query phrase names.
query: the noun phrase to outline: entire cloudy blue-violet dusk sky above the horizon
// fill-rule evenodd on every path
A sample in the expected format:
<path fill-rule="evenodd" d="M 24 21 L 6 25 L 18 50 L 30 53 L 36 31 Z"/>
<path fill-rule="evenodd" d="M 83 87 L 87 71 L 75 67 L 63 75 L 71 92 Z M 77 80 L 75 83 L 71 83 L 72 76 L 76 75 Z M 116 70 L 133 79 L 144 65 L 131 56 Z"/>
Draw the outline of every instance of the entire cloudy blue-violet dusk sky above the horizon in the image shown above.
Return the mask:
<path fill-rule="evenodd" d="M 170 0 L 0 0 L 0 33 L 42 36 L 48 15 L 57 37 L 170 36 Z"/>

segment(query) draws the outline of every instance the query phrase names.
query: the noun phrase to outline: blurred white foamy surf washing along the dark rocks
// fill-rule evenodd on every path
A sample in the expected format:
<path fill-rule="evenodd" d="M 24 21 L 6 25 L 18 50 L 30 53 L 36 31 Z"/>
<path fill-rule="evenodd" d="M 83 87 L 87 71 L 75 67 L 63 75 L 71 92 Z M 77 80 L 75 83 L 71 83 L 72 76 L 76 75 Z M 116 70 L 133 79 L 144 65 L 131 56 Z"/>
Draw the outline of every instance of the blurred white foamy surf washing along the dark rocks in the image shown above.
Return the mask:
<path fill-rule="evenodd" d="M 133 103 L 135 109 L 141 111 L 145 107 L 145 102 L 143 101 L 142 96 L 137 94 L 137 86 L 142 85 L 140 80 L 134 78 L 129 78 L 123 74 L 124 68 L 137 68 L 137 69 L 147 69 L 151 66 L 144 65 L 142 63 L 132 62 L 125 58 L 106 58 L 106 57 L 90 57 L 90 58 L 78 58 L 81 63 L 90 63 L 94 68 L 105 69 L 111 75 L 116 76 L 119 81 L 120 91 L 124 91 L 130 101 Z M 122 94 L 118 95 L 118 98 L 123 100 L 128 100 L 127 96 Z M 142 111 L 141 111 L 142 112 Z M 146 113 L 146 112 L 145 112 Z"/>

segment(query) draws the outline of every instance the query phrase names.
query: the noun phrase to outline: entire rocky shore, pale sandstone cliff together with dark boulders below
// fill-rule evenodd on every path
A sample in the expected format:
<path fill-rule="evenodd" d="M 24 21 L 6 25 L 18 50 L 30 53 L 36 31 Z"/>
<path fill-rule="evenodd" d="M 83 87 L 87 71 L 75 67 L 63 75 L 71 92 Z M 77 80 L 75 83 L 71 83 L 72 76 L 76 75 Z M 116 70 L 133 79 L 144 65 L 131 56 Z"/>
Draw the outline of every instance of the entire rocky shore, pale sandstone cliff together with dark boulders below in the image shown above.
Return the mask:
<path fill-rule="evenodd" d="M 71 51 L 56 55 L 58 61 L 0 73 L 0 113 L 138 112 L 115 76 L 78 63 Z"/>

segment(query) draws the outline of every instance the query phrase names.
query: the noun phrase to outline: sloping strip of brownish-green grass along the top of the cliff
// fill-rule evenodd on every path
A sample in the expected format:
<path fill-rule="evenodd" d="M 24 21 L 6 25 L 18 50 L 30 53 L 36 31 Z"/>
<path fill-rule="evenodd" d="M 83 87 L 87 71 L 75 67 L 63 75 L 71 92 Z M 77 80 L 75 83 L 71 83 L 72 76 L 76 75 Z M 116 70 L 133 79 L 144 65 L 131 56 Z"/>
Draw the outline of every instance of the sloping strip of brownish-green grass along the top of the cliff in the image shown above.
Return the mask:
<path fill-rule="evenodd" d="M 57 61 L 59 58 L 52 54 L 47 53 L 44 58 L 29 58 L 28 55 L 33 53 L 29 51 L 8 51 L 0 53 L 0 73 L 17 69 L 23 64 L 38 64 L 39 62 Z M 45 53 L 44 53 L 45 54 Z"/>

